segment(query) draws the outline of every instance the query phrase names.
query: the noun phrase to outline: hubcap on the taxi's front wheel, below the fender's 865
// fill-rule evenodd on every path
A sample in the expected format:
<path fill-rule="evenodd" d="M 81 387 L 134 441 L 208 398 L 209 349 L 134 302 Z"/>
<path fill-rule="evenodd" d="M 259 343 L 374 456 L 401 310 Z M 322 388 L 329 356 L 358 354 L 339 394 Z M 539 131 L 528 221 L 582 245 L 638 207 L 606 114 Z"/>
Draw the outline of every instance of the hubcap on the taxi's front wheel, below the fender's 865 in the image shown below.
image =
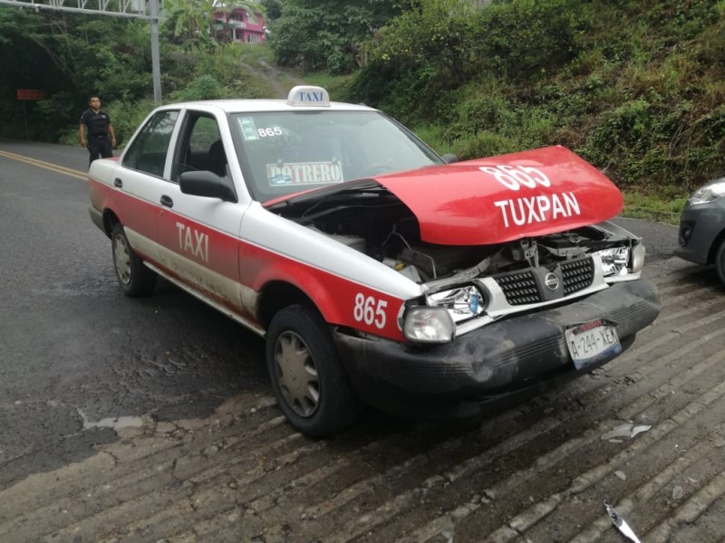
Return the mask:
<path fill-rule="evenodd" d="M 275 369 L 287 405 L 300 416 L 312 416 L 320 403 L 320 381 L 307 345 L 295 332 L 277 338 Z"/>

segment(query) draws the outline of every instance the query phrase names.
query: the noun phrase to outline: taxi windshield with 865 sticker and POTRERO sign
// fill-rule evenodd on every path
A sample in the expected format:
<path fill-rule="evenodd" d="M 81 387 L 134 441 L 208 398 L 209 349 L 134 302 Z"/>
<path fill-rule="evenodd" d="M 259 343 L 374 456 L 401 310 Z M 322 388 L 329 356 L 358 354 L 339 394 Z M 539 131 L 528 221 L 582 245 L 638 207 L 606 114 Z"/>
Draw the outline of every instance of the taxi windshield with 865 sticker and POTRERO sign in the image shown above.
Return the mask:
<path fill-rule="evenodd" d="M 443 163 L 378 111 L 267 111 L 230 120 L 247 185 L 261 202 Z"/>

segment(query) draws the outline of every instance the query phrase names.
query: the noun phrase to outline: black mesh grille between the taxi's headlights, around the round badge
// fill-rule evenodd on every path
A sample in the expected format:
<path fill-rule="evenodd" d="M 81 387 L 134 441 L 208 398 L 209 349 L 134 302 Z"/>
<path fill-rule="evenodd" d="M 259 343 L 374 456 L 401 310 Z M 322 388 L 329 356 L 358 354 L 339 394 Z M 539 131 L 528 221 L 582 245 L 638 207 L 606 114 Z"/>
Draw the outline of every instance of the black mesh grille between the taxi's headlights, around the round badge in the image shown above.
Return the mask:
<path fill-rule="evenodd" d="M 561 285 L 556 293 L 545 291 L 544 278 L 553 272 Z M 493 276 L 510 305 L 526 305 L 562 298 L 589 287 L 594 281 L 594 261 L 591 257 L 564 262 L 553 270 L 529 268 Z"/>

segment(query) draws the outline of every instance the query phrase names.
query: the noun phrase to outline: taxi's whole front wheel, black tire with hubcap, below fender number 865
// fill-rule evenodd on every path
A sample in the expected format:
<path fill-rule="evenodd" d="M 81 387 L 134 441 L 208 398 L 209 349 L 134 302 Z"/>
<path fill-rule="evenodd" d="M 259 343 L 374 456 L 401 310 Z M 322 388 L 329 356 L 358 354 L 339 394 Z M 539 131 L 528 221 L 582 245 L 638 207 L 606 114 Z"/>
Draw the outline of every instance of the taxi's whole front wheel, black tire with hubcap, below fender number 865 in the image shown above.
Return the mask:
<path fill-rule="evenodd" d="M 361 405 L 314 310 L 279 311 L 266 334 L 266 364 L 282 412 L 300 433 L 324 437 L 354 423 Z"/>

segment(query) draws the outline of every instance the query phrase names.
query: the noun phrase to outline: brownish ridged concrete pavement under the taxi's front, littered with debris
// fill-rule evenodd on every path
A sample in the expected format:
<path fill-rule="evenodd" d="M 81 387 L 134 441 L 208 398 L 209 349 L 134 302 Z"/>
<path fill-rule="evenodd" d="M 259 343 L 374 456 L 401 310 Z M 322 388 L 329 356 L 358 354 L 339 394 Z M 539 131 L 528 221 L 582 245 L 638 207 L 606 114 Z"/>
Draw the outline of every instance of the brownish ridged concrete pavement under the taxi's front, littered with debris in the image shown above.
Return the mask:
<path fill-rule="evenodd" d="M 263 390 L 0 491 L 0 541 L 725 539 L 725 296 L 662 258 L 662 314 L 591 376 L 459 423 L 369 414 L 314 441 Z M 121 427 L 124 424 L 126 427 Z"/>

